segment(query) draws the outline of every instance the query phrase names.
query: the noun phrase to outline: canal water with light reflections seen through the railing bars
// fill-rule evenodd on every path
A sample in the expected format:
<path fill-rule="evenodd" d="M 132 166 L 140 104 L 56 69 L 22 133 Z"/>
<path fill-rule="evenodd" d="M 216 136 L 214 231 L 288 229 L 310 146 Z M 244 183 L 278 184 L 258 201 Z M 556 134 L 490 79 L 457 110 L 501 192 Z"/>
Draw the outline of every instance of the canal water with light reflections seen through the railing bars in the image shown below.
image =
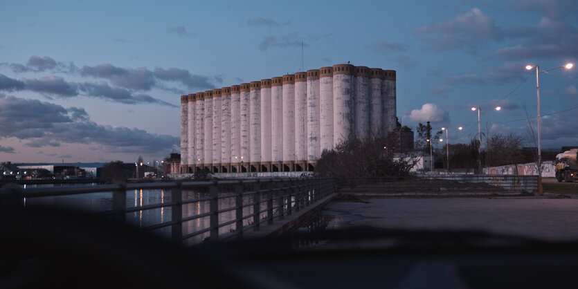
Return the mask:
<path fill-rule="evenodd" d="M 98 185 L 96 183 L 88 185 Z M 26 185 L 24 189 L 30 187 L 59 187 L 73 186 L 71 184 L 61 185 L 61 184 L 47 184 L 47 185 Z M 87 186 L 87 184 L 79 184 L 76 186 Z M 230 194 L 231 192 L 219 192 L 219 194 Z M 186 190 L 183 189 L 183 200 L 192 198 L 204 198 L 208 196 L 208 192 L 204 190 Z M 146 205 L 169 203 L 171 201 L 170 189 L 134 189 L 127 191 L 127 208 L 132 207 L 142 207 Z M 26 206 L 47 206 L 56 207 L 64 209 L 73 209 L 80 212 L 105 212 L 112 209 L 112 192 L 98 192 L 91 194 L 82 195 L 71 195 L 71 196 L 47 196 L 39 198 L 29 198 L 25 200 Z M 243 203 L 249 204 L 253 203 L 253 196 L 244 196 Z M 231 198 L 220 198 L 219 199 L 219 209 L 225 209 L 230 207 L 235 207 L 235 197 Z M 261 204 L 261 210 L 265 209 L 267 204 Z M 183 205 L 182 208 L 183 216 L 194 216 L 198 214 L 204 214 L 210 211 L 209 201 L 199 201 L 195 203 L 189 203 Z M 249 216 L 253 214 L 253 206 L 246 206 L 243 208 L 243 216 Z M 225 223 L 226 221 L 234 220 L 236 216 L 235 210 L 229 212 L 223 212 L 219 214 L 219 223 Z M 150 225 L 156 225 L 160 223 L 166 223 L 172 220 L 172 208 L 171 207 L 161 207 L 158 209 L 145 209 L 138 210 L 136 212 L 127 213 L 126 216 L 127 224 L 144 228 Z M 251 225 L 253 218 L 245 218 L 244 225 Z M 199 230 L 204 230 L 210 227 L 209 217 L 197 218 L 192 221 L 187 221 L 183 223 L 183 236 L 190 234 L 191 232 L 197 232 Z M 235 224 L 226 225 L 219 228 L 219 234 L 225 234 L 227 232 L 234 232 Z M 152 231 L 153 234 L 159 234 L 163 237 L 170 238 L 171 228 L 164 227 L 158 230 Z M 195 243 L 200 243 L 208 237 L 208 232 L 204 234 L 199 234 L 197 236 L 187 239 L 183 243 L 186 245 L 192 245 Z"/>

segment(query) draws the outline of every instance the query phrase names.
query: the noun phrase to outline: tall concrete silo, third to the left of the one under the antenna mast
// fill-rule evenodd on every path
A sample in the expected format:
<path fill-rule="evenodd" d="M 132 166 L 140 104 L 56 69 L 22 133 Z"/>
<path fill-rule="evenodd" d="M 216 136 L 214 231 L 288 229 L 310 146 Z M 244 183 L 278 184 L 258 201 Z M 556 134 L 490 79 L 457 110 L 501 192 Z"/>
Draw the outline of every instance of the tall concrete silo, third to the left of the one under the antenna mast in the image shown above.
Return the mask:
<path fill-rule="evenodd" d="M 261 80 L 261 169 L 271 171 L 271 80 Z"/>

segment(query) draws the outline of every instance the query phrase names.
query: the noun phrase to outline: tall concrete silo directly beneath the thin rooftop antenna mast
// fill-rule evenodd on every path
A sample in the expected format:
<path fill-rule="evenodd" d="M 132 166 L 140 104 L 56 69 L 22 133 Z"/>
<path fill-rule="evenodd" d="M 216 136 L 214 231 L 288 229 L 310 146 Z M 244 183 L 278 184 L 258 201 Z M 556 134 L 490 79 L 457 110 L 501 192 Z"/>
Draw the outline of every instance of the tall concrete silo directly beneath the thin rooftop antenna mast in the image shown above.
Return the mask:
<path fill-rule="evenodd" d="M 307 170 L 307 73 L 295 73 L 295 167 Z"/>

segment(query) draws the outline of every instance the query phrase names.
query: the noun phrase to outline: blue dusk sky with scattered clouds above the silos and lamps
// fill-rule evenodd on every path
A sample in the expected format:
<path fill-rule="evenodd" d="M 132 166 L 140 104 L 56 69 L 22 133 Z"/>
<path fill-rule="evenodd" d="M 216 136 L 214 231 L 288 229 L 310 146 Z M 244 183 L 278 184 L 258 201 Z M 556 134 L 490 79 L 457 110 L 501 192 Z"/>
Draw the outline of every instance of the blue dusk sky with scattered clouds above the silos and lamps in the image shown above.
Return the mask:
<path fill-rule="evenodd" d="M 576 15 L 575 0 L 3 1 L 0 161 L 161 160 L 180 150 L 180 95 L 347 62 L 397 71 L 414 131 L 469 143 L 480 106 L 484 133 L 534 147 L 525 66 L 576 63 Z M 578 145 L 577 68 L 540 86 L 542 147 Z"/>

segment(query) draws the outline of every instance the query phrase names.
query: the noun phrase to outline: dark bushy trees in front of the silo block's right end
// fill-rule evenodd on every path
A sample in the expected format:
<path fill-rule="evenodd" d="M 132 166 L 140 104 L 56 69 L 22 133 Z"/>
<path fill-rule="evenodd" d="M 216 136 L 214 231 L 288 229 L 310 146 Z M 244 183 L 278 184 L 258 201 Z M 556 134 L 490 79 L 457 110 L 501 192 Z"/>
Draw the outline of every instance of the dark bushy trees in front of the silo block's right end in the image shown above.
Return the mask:
<path fill-rule="evenodd" d="M 406 176 L 417 162 L 414 158 L 394 159 L 384 138 L 352 139 L 335 149 L 325 150 L 317 162 L 317 176 Z"/>

